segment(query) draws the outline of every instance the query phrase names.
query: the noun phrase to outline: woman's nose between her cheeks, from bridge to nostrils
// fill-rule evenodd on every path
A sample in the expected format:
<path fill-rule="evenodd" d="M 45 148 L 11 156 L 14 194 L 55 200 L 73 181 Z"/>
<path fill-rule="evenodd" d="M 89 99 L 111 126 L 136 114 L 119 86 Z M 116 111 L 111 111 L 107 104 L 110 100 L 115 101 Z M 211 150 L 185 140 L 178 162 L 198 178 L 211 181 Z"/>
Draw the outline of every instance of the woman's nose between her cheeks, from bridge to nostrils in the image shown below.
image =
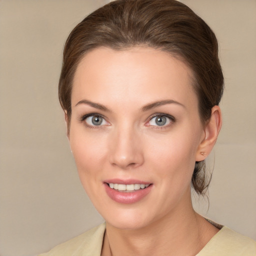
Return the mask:
<path fill-rule="evenodd" d="M 109 162 L 121 169 L 140 166 L 144 162 L 143 144 L 139 132 L 132 127 L 113 131 L 109 141 Z"/>

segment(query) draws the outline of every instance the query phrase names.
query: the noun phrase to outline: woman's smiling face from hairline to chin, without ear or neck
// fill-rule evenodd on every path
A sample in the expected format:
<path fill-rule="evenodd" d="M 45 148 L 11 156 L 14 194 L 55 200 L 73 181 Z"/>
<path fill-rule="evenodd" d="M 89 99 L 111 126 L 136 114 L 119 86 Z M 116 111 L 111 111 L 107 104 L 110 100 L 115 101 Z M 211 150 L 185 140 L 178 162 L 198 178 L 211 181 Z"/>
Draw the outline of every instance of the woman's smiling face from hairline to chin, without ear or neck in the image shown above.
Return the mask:
<path fill-rule="evenodd" d="M 204 130 L 190 69 L 150 47 L 87 53 L 75 72 L 69 141 L 106 222 L 139 228 L 185 212 Z"/>

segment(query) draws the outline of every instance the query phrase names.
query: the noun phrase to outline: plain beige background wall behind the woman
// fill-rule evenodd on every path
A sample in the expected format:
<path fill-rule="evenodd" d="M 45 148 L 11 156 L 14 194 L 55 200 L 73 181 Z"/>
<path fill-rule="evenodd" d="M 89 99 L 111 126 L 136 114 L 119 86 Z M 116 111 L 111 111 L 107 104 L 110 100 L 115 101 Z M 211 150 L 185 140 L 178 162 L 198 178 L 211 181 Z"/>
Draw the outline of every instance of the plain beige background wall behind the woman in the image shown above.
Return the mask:
<path fill-rule="evenodd" d="M 58 105 L 70 29 L 107 0 L 0 0 L 0 255 L 35 255 L 102 221 L 78 180 Z M 256 239 L 256 1 L 182 0 L 213 28 L 223 127 L 202 214 Z"/>

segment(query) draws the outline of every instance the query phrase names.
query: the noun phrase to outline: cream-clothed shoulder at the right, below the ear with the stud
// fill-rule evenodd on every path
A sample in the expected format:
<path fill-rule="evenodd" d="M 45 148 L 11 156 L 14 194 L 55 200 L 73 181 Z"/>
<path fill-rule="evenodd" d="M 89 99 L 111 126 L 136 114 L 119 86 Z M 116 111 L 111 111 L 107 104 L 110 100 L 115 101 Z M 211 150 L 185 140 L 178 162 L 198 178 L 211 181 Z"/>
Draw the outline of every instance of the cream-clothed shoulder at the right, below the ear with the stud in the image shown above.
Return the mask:
<path fill-rule="evenodd" d="M 197 256 L 256 256 L 256 241 L 223 226 Z"/>

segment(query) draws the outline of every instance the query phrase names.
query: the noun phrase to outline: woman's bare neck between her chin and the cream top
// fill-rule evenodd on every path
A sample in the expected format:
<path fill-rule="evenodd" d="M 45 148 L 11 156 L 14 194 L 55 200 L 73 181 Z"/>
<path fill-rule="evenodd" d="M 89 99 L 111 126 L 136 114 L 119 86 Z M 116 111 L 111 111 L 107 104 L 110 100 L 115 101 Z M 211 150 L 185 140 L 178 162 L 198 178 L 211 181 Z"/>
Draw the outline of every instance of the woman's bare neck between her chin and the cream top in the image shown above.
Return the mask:
<path fill-rule="evenodd" d="M 195 255 L 217 231 L 190 203 L 139 229 L 106 223 L 102 255 Z"/>

